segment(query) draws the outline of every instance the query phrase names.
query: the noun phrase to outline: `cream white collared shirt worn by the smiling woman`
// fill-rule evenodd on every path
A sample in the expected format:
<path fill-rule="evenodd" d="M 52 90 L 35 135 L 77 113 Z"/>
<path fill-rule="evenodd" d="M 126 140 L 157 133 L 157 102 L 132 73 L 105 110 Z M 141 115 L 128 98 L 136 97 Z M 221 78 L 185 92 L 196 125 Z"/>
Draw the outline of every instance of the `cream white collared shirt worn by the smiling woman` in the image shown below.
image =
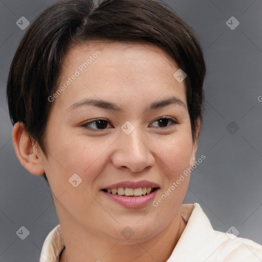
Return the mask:
<path fill-rule="evenodd" d="M 198 203 L 180 208 L 187 222 L 176 247 L 166 262 L 261 262 L 262 246 L 247 238 L 213 230 L 208 217 Z M 60 225 L 43 243 L 40 262 L 59 262 L 64 248 Z"/>

